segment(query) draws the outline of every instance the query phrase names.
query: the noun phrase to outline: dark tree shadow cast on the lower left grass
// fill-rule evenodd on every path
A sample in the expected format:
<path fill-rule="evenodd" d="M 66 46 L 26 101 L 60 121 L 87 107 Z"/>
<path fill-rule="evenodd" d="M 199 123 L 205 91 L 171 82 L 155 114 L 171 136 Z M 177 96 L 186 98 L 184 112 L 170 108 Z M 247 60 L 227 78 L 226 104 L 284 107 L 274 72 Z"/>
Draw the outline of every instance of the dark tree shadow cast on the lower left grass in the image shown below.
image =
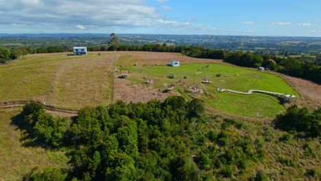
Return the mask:
<path fill-rule="evenodd" d="M 11 125 L 16 126 L 16 130 L 21 131 L 21 138 L 19 141 L 22 143 L 24 147 L 44 147 L 48 148 L 48 145 L 40 141 L 34 132 L 34 129 L 32 128 L 32 125 L 27 123 L 25 121 L 25 115 L 20 113 L 17 114 L 16 116 L 11 118 Z"/>

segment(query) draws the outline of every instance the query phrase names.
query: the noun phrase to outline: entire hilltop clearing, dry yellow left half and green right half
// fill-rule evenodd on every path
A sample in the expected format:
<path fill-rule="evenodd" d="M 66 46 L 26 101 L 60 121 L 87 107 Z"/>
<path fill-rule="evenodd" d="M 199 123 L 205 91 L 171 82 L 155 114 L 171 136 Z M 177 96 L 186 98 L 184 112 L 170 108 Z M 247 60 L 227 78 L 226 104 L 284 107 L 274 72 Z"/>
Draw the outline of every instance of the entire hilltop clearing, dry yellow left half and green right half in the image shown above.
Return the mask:
<path fill-rule="evenodd" d="M 167 67 L 171 60 L 179 60 L 181 66 Z M 115 73 L 115 65 L 116 69 L 123 69 L 122 73 L 126 69 L 132 72 L 128 79 L 114 78 L 120 75 Z M 222 77 L 216 77 L 217 73 Z M 174 79 L 167 78 L 171 74 L 175 75 Z M 144 85 L 144 75 L 147 79 L 153 78 L 154 84 Z M 185 76 L 187 79 L 183 79 Z M 211 84 L 201 84 L 204 77 L 211 79 Z M 185 85 L 178 83 L 179 79 Z M 193 95 L 186 88 L 194 85 L 194 79 L 206 94 Z M 162 93 L 171 83 L 176 84 L 174 91 Z M 32 99 L 58 108 L 78 110 L 84 106 L 107 105 L 118 99 L 148 101 L 182 95 L 188 99 L 199 97 L 215 110 L 243 117 L 271 118 L 285 110 L 280 100 L 271 95 L 219 93 L 217 88 L 242 92 L 250 89 L 276 93 L 287 91 L 289 95 L 299 95 L 278 76 L 230 66 L 220 60 L 189 58 L 180 53 L 105 51 L 101 56 L 97 52 L 88 56 L 34 54 L 0 67 L 2 102 Z"/>

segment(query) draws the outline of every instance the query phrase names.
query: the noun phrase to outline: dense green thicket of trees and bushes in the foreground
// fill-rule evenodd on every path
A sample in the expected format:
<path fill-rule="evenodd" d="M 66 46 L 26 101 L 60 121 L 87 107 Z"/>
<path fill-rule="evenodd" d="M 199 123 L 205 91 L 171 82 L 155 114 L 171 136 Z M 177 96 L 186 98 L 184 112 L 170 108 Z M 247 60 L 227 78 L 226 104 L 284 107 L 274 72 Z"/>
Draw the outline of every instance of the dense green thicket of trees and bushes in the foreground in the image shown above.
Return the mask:
<path fill-rule="evenodd" d="M 68 147 L 71 158 L 67 169 L 34 169 L 25 180 L 219 180 L 243 176 L 265 157 L 261 143 L 229 131 L 245 130 L 243 123 L 213 125 L 199 99 L 84 108 L 70 126 L 36 103 L 23 114 L 39 138 Z"/>

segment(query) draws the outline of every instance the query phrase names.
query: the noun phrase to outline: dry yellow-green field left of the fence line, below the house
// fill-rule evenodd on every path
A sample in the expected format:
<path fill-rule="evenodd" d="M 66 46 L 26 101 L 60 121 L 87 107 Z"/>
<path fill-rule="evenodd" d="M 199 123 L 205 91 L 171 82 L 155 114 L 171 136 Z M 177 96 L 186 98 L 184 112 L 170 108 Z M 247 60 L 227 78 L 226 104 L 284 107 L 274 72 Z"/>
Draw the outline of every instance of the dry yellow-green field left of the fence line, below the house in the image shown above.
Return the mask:
<path fill-rule="evenodd" d="M 37 100 L 60 108 L 110 103 L 112 55 L 34 54 L 0 67 L 0 99 Z"/>

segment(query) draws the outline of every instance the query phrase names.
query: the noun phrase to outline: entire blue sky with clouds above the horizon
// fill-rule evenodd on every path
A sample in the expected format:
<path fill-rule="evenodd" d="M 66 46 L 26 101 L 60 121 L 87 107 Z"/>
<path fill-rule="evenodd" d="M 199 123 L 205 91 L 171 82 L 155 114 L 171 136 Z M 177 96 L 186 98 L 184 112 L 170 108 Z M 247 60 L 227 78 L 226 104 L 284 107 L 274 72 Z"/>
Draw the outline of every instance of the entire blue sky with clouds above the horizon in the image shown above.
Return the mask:
<path fill-rule="evenodd" d="M 0 33 L 321 36 L 321 0 L 0 0 Z"/>

